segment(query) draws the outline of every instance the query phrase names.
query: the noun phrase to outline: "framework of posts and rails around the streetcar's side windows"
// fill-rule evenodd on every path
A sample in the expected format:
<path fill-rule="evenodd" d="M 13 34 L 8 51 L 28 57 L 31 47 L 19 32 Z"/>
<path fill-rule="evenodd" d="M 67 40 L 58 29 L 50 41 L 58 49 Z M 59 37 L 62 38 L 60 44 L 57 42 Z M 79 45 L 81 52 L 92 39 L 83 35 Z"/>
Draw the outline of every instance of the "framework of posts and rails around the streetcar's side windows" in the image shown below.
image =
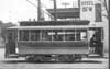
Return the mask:
<path fill-rule="evenodd" d="M 69 30 L 70 31 L 75 31 L 75 41 L 66 41 L 66 34 L 63 34 L 63 39 L 62 41 L 54 41 L 54 35 L 52 35 L 51 37 L 52 37 L 52 39 L 51 41 L 43 41 L 43 31 L 51 31 L 52 33 L 54 33 L 54 31 L 56 31 L 56 32 L 58 32 L 58 31 L 62 31 L 63 33 L 66 33 L 66 31 L 68 31 L 69 32 Z M 80 41 L 77 41 L 77 31 L 80 31 L 80 33 L 81 32 L 84 32 L 85 31 L 85 33 L 86 33 L 86 39 L 85 41 L 88 41 L 88 30 L 87 28 L 74 28 L 74 30 L 72 30 L 72 28 L 68 28 L 68 30 L 18 30 L 18 41 L 20 41 L 20 42 L 80 42 Z M 84 30 L 84 31 L 82 31 Z M 29 31 L 29 39 L 28 41 L 24 41 L 24 39 L 20 39 L 20 31 Z M 40 31 L 40 38 L 37 39 L 37 41 L 32 41 L 31 39 L 31 31 Z M 81 35 L 80 35 L 80 38 L 81 38 Z"/>

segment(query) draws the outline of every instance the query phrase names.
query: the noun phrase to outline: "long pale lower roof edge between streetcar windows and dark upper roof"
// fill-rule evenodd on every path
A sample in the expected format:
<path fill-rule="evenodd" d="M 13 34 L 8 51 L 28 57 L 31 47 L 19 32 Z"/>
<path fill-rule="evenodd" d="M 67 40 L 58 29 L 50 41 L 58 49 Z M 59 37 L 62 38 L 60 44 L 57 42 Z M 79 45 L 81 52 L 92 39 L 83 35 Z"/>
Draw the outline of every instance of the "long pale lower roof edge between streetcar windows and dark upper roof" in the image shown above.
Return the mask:
<path fill-rule="evenodd" d="M 63 26 L 13 26 L 11 30 L 68 30 L 68 28 L 88 28 L 88 25 L 63 25 Z"/>

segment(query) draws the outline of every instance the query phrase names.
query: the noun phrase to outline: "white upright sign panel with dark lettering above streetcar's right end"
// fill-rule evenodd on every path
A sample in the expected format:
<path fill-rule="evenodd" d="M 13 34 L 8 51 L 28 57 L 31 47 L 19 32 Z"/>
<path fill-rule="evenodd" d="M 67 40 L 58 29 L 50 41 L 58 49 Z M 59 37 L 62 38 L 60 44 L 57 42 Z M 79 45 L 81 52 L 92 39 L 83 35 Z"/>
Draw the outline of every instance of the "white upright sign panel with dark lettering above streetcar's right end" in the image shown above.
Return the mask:
<path fill-rule="evenodd" d="M 95 21 L 95 0 L 80 0 L 80 19 Z"/>

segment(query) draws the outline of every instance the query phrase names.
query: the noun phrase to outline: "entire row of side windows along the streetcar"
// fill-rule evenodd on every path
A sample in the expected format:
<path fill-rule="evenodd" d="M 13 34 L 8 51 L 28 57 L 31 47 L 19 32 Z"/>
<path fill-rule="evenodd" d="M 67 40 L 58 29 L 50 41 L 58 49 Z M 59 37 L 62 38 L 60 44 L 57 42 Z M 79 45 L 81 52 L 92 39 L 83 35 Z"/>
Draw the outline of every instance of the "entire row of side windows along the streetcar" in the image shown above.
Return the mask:
<path fill-rule="evenodd" d="M 22 30 L 20 41 L 85 41 L 87 30 Z"/>

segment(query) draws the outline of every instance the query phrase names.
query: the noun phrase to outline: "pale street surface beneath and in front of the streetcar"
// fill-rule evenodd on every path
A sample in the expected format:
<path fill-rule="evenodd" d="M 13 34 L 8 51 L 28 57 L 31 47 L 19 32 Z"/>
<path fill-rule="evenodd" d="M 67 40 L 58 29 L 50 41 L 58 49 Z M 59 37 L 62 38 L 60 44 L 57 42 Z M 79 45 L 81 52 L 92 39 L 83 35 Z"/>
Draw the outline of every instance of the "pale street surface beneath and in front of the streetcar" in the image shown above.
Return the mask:
<path fill-rule="evenodd" d="M 24 58 L 4 58 L 0 48 L 0 69 L 109 69 L 106 58 L 84 58 L 75 62 L 28 62 Z"/>

